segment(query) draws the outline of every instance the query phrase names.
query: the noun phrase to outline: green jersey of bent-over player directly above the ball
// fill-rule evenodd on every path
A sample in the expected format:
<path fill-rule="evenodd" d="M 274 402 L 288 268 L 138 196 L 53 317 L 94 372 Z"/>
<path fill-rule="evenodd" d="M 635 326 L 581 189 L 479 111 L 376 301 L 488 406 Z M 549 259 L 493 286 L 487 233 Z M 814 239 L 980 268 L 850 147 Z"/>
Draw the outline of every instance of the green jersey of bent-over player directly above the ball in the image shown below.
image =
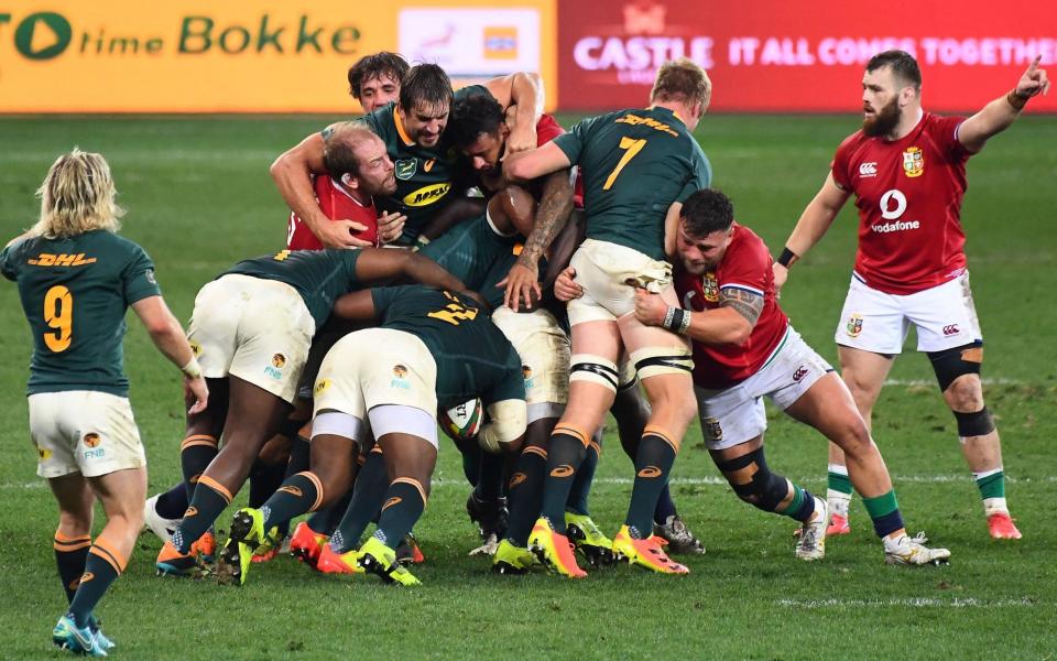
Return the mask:
<path fill-rule="evenodd" d="M 472 300 L 421 285 L 371 290 L 383 328 L 410 333 L 426 345 L 437 362 L 437 403 L 450 409 L 481 398 L 525 399 L 521 359 Z"/>

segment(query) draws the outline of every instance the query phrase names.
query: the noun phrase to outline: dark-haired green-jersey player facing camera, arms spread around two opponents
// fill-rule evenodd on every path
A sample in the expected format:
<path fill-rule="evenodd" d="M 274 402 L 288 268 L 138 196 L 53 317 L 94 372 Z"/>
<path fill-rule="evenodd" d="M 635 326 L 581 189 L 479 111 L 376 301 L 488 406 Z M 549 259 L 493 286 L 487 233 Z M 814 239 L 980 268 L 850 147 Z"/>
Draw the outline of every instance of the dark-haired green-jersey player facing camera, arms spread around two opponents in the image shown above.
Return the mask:
<path fill-rule="evenodd" d="M 490 94 L 504 108 L 513 107 L 519 118 L 517 141 L 535 144 L 534 127 L 543 102 L 538 80 L 538 76 L 531 74 L 511 74 L 483 86 L 466 87 L 458 95 Z M 404 76 L 396 104 L 383 106 L 360 120 L 385 142 L 396 166 L 396 192 L 378 202 L 383 210 L 406 216 L 406 223 L 396 228 L 402 229 L 401 245 L 414 245 L 427 221 L 460 199 L 459 193 L 466 188 L 465 182 L 457 181 L 456 161 L 440 140 L 451 98 L 451 82 L 447 74 L 437 65 L 421 64 Z M 531 140 L 526 140 L 525 134 Z M 290 208 L 324 246 L 364 246 L 366 241 L 352 236 L 362 230 L 359 224 L 351 220 L 331 223 L 316 203 L 310 175 L 324 174 L 319 167 L 322 141 L 323 136 L 314 133 L 283 153 L 272 164 L 272 178 Z M 388 234 L 390 229 L 385 227 L 382 231 Z M 433 231 L 426 234 L 428 238 L 435 238 Z"/>

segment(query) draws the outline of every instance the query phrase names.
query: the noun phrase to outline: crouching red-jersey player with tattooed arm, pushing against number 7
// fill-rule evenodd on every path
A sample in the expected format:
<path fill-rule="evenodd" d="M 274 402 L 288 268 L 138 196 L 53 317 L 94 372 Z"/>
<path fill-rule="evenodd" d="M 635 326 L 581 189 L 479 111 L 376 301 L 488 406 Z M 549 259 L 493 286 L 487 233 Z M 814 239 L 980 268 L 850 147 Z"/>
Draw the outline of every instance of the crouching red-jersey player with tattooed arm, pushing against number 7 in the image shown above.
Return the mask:
<path fill-rule="evenodd" d="M 766 395 L 846 449 L 851 479 L 883 541 L 885 562 L 946 561 L 950 556 L 946 549 L 928 549 L 923 537 L 907 537 L 884 459 L 848 389 L 789 325 L 775 300 L 767 247 L 751 229 L 734 223 L 726 195 L 704 189 L 686 201 L 674 253 L 675 286 L 684 308 L 640 289 L 635 316 L 693 340 L 701 433 L 716 467 L 738 497 L 802 522 L 797 557 L 814 561 L 825 555 L 826 502 L 772 472 L 764 457 Z M 564 292 L 566 297 L 580 290 L 573 282 L 558 286 L 563 285 L 573 286 Z"/>

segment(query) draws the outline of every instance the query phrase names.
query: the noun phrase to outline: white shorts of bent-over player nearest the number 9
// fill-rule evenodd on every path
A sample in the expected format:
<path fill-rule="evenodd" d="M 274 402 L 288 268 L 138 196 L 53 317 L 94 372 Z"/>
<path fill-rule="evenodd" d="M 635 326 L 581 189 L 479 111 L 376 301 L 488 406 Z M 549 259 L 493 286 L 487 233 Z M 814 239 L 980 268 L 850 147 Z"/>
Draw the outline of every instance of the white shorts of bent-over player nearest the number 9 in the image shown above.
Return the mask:
<path fill-rule="evenodd" d="M 238 377 L 293 403 L 315 332 L 297 290 L 229 273 L 195 296 L 187 340 L 206 378 Z"/>

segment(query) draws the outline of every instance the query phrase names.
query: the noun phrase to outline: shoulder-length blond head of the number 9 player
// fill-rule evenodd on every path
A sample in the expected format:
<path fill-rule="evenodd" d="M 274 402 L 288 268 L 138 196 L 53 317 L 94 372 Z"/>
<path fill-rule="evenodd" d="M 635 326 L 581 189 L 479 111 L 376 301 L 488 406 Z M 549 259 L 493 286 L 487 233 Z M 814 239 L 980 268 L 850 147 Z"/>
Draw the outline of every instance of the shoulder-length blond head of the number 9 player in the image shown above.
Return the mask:
<path fill-rule="evenodd" d="M 52 163 L 36 195 L 41 198 L 41 219 L 33 234 L 61 239 L 121 227 L 124 212 L 115 202 L 118 192 L 102 154 L 75 147 Z"/>

